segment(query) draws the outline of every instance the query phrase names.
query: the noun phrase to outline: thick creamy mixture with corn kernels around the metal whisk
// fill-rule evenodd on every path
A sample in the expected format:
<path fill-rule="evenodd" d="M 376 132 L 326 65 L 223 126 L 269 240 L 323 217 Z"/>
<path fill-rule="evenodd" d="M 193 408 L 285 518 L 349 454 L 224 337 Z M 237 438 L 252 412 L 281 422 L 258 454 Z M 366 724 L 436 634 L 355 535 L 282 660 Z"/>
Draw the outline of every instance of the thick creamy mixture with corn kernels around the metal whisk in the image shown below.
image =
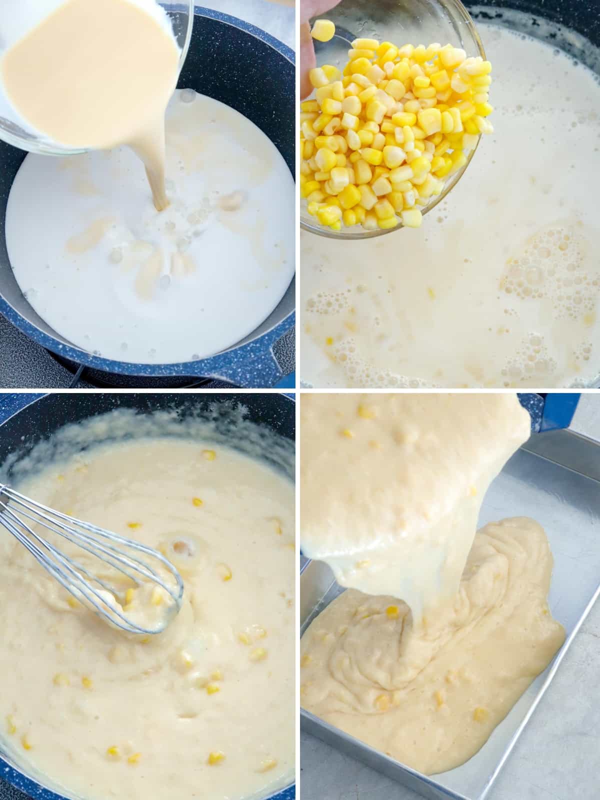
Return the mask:
<path fill-rule="evenodd" d="M 294 770 L 294 488 L 225 446 L 141 438 L 19 490 L 161 549 L 166 632 L 119 633 L 0 530 L 0 736 L 83 798 L 264 797 Z"/>

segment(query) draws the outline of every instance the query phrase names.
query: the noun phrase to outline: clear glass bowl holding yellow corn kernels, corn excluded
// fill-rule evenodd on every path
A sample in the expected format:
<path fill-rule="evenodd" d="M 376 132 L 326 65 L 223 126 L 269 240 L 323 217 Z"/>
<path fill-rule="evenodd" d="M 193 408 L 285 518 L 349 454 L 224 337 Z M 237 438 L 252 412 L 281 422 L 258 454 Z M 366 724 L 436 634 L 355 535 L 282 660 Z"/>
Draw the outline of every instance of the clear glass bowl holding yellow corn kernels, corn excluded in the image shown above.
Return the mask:
<path fill-rule="evenodd" d="M 467 57 L 486 58 L 482 40 L 469 12 L 459 0 L 342 0 L 322 14 L 322 18 L 335 23 L 335 36 L 330 42 L 314 42 L 317 66 L 332 64 L 340 70 L 348 61 L 348 49 L 356 38 L 374 38 L 379 42 L 394 42 L 395 45 L 440 42 L 451 44 L 466 51 Z M 312 96 L 312 95 L 311 95 Z M 481 137 L 480 137 L 481 138 Z M 466 154 L 466 164 L 448 178 L 441 194 L 422 207 L 422 213 L 435 208 L 461 179 L 473 158 L 477 146 Z M 365 230 L 355 225 L 342 230 L 331 230 L 322 226 L 306 210 L 306 200 L 300 203 L 300 226 L 310 233 L 333 239 L 367 239 L 394 233 L 402 228 L 402 221 L 387 230 Z"/>

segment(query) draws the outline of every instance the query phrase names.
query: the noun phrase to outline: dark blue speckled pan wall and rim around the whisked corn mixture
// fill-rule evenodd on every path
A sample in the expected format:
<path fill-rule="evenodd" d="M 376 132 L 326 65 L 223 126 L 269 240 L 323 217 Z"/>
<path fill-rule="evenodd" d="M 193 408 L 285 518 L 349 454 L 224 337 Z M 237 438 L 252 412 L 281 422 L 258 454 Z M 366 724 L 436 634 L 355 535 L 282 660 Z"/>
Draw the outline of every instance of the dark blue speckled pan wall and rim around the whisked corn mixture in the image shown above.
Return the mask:
<path fill-rule="evenodd" d="M 295 438 L 295 402 L 282 394 L 0 394 L 0 464 L 15 450 L 26 454 L 68 422 L 116 408 L 187 410 L 214 402 L 242 404 L 253 422 L 288 439 Z M 0 745 L 0 754 L 2 746 Z M 265 800 L 294 800 L 294 784 Z M 66 800 L 15 770 L 0 757 L 0 800 Z M 185 798 L 178 798 L 185 800 Z M 206 798 L 214 800 L 214 798 Z"/>

